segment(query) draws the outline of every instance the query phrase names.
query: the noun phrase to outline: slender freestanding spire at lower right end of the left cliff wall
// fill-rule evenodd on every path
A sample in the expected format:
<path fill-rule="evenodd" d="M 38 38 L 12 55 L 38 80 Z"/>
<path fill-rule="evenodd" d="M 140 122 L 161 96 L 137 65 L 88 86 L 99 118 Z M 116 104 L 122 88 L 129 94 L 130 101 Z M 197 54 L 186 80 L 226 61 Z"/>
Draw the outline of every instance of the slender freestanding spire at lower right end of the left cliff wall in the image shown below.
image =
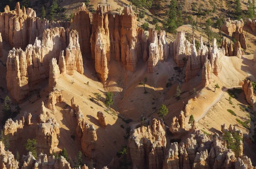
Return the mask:
<path fill-rule="evenodd" d="M 52 58 L 50 61 L 50 70 L 49 70 L 49 92 L 54 90 L 58 82 L 58 76 L 60 75 L 60 69 L 57 65 L 56 58 Z"/>

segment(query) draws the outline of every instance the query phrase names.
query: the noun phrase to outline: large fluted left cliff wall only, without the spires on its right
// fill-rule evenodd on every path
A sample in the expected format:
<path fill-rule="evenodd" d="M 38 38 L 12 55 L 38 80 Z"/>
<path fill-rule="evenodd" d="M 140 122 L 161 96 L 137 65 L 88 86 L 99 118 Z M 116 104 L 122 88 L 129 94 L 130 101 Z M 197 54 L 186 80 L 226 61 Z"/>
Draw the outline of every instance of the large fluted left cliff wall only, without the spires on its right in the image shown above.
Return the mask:
<path fill-rule="evenodd" d="M 61 48 L 65 48 L 65 44 L 64 28 L 53 28 L 44 30 L 42 42 L 36 39 L 34 45 L 28 45 L 25 51 L 15 48 L 9 51 L 6 82 L 16 101 L 22 101 L 30 87 L 49 77 L 49 62 Z"/>

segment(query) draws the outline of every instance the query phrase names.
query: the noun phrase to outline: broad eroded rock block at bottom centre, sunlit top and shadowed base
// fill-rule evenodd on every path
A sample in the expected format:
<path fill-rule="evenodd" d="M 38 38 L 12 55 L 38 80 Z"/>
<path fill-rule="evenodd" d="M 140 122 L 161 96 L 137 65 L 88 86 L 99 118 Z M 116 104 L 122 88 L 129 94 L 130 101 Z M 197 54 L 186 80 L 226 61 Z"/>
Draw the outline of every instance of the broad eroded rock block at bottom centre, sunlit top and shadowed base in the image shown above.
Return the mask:
<path fill-rule="evenodd" d="M 133 166 L 138 169 L 163 168 L 166 155 L 166 132 L 164 125 L 153 119 L 148 127 L 134 130 L 129 138 L 128 149 Z"/>

